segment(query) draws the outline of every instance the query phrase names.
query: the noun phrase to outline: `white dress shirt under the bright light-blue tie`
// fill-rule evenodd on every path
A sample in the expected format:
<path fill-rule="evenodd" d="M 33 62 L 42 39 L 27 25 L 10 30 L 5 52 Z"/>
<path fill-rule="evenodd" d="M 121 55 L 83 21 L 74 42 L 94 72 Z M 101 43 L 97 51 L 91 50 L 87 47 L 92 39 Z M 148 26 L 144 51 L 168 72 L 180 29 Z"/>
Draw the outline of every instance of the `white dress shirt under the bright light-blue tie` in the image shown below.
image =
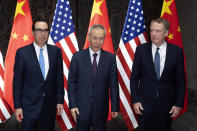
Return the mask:
<path fill-rule="evenodd" d="M 40 54 L 40 47 L 34 42 L 33 43 L 34 45 L 34 48 L 36 50 L 36 55 L 37 55 L 37 58 L 38 58 L 38 61 L 39 61 L 39 54 Z M 48 73 L 48 70 L 49 70 L 49 58 L 48 58 L 48 51 L 47 51 L 47 46 L 46 44 L 42 47 L 43 49 L 43 57 L 44 57 L 44 69 L 45 69 L 45 77 L 44 79 L 46 79 L 46 76 L 47 76 L 47 73 Z"/>

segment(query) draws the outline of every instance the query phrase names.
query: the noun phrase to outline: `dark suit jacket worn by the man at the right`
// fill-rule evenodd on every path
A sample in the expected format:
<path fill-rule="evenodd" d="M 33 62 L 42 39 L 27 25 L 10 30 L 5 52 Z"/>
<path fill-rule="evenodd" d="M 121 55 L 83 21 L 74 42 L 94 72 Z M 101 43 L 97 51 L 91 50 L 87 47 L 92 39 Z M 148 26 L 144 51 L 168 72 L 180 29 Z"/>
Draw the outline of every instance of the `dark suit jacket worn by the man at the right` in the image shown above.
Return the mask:
<path fill-rule="evenodd" d="M 133 103 L 142 103 L 144 111 L 151 111 L 154 107 L 157 89 L 157 101 L 162 109 L 170 111 L 173 105 L 184 105 L 186 82 L 183 51 L 169 43 L 166 48 L 165 65 L 159 80 L 153 63 L 152 44 L 146 43 L 136 49 L 131 74 L 131 96 Z"/>

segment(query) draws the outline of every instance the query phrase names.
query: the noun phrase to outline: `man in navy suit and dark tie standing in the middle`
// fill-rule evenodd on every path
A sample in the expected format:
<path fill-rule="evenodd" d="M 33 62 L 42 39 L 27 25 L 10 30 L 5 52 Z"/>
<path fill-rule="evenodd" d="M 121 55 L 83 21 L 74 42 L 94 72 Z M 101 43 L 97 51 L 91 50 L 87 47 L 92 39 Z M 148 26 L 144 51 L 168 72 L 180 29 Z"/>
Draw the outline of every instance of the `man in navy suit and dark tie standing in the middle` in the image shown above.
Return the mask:
<path fill-rule="evenodd" d="M 93 25 L 88 33 L 89 48 L 75 53 L 68 75 L 69 108 L 79 131 L 104 131 L 109 107 L 112 117 L 119 111 L 116 58 L 101 49 L 105 28 Z M 98 67 L 97 67 L 98 66 Z"/>

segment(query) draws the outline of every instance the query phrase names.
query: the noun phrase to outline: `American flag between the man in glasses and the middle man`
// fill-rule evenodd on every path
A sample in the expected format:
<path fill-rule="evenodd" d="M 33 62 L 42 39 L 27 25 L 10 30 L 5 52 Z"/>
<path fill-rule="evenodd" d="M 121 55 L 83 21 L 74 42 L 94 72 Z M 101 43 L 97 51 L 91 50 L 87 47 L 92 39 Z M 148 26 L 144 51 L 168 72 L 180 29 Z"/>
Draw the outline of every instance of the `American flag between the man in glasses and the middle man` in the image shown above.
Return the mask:
<path fill-rule="evenodd" d="M 72 55 L 79 50 L 68 0 L 58 0 L 57 2 L 48 43 L 54 44 L 62 49 L 65 90 L 64 110 L 61 116 L 57 116 L 56 118 L 61 129 L 65 131 L 76 124 L 68 107 L 67 80 Z"/>

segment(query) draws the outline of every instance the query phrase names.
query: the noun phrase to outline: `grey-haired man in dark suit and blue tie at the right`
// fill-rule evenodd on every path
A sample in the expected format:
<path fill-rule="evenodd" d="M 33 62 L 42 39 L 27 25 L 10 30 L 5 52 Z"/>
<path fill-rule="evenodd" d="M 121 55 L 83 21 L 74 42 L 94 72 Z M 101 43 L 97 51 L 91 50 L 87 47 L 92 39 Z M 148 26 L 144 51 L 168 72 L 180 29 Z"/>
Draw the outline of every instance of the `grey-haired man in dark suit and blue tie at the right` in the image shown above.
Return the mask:
<path fill-rule="evenodd" d="M 140 131 L 170 131 L 171 117 L 176 117 L 184 105 L 183 51 L 166 43 L 168 30 L 167 20 L 152 20 L 152 43 L 136 49 L 130 88 Z"/>

